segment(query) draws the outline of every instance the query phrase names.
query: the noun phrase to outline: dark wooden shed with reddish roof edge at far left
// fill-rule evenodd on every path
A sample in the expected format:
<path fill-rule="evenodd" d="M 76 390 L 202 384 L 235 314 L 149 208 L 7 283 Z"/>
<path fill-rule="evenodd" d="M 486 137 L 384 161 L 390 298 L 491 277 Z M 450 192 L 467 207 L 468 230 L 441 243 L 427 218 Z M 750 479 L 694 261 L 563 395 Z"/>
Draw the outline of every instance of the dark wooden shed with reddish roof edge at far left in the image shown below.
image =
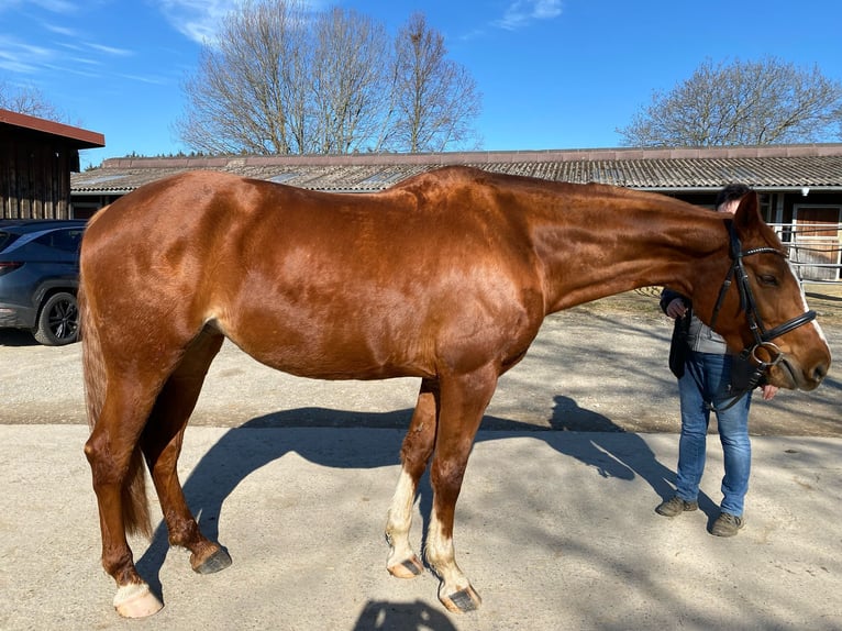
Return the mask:
<path fill-rule="evenodd" d="M 70 219 L 70 171 L 102 134 L 0 109 L 2 219 Z"/>

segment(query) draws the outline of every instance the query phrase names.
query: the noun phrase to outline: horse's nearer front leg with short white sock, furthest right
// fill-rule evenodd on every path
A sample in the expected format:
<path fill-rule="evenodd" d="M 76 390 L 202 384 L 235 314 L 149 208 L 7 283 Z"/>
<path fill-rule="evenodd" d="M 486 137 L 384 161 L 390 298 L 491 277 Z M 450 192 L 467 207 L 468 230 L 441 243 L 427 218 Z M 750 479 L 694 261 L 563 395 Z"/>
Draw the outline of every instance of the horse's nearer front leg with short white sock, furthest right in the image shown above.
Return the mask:
<path fill-rule="evenodd" d="M 441 579 L 439 600 L 451 611 L 477 609 L 481 599 L 456 564 L 453 524 L 456 500 L 477 429 L 497 386 L 492 367 L 442 379 L 435 455 L 430 469 L 433 511 L 426 534 L 425 557 Z"/>

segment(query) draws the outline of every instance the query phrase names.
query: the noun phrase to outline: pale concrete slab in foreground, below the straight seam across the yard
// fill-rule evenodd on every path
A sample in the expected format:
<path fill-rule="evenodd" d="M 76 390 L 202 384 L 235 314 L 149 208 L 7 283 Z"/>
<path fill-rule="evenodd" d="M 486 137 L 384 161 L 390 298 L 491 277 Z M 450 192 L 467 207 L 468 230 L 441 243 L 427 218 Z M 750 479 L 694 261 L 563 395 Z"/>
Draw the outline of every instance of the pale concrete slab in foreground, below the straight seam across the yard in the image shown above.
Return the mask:
<path fill-rule="evenodd" d="M 437 580 L 390 577 L 385 511 L 402 431 L 191 428 L 181 458 L 204 532 L 234 560 L 195 574 L 158 527 L 134 541 L 164 609 L 111 607 L 81 425 L 0 425 L 0 629 L 842 629 L 842 440 L 760 436 L 746 527 L 667 519 L 676 436 L 480 432 L 456 514 L 459 565 L 484 599 L 446 612 Z M 424 484 L 413 543 L 430 511 Z"/>

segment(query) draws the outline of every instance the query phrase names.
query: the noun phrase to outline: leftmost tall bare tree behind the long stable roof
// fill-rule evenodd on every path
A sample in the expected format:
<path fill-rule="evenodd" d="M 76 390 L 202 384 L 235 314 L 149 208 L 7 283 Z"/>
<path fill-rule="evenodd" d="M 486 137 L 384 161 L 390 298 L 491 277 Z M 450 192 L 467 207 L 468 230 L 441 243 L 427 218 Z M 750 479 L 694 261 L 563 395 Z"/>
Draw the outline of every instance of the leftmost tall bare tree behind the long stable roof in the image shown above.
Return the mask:
<path fill-rule="evenodd" d="M 309 60 L 301 0 L 251 2 L 206 43 L 198 73 L 184 86 L 189 100 L 176 129 L 208 153 L 304 153 Z"/>

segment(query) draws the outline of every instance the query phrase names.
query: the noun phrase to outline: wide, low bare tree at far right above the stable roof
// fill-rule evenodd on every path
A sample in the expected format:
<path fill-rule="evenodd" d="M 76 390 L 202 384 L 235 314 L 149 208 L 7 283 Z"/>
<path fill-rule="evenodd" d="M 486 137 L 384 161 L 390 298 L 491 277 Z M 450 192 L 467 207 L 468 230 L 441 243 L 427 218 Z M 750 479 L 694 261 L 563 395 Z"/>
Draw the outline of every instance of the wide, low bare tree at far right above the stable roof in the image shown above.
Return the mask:
<path fill-rule="evenodd" d="M 828 140 L 842 84 L 774 57 L 711 60 L 618 129 L 630 146 L 722 146 Z M 842 131 L 842 130 L 841 130 Z M 837 134 L 839 135 L 839 134 Z"/>

